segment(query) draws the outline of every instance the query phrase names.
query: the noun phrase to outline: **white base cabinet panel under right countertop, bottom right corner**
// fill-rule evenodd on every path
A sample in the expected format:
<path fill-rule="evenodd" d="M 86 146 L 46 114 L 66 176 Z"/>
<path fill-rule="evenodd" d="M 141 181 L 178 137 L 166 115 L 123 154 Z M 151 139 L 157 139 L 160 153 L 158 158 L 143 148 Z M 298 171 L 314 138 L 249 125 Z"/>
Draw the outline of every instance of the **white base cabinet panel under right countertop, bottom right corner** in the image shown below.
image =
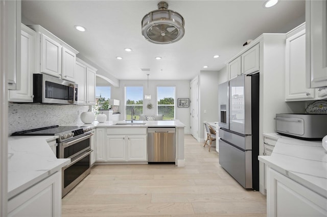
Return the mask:
<path fill-rule="evenodd" d="M 326 199 L 268 168 L 267 216 L 326 216 Z"/>

